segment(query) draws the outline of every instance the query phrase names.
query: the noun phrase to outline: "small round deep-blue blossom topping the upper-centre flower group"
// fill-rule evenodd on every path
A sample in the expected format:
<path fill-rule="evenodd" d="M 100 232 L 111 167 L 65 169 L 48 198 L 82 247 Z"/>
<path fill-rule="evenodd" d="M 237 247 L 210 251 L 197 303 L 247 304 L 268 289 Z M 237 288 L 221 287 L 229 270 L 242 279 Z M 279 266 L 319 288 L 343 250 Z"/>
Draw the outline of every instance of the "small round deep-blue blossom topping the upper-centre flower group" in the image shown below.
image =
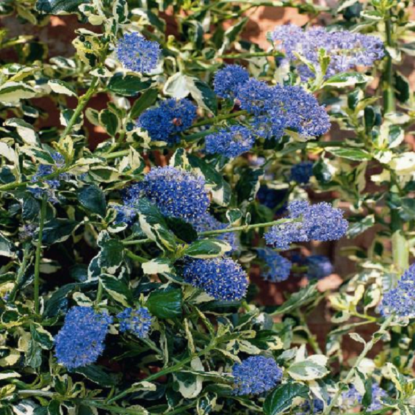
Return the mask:
<path fill-rule="evenodd" d="M 220 98 L 233 99 L 239 86 L 249 79 L 248 71 L 239 65 L 227 65 L 214 75 L 214 92 Z"/>

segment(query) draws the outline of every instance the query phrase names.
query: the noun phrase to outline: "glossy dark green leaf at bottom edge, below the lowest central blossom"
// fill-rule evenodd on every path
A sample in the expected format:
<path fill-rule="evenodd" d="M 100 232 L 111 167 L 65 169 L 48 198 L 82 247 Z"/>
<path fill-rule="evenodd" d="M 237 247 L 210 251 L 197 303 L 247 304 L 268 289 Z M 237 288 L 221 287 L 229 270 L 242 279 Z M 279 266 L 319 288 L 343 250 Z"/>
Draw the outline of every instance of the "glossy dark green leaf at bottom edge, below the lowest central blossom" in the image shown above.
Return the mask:
<path fill-rule="evenodd" d="M 308 398 L 308 387 L 301 383 L 284 383 L 266 397 L 264 414 L 283 414 L 293 405 L 294 398 Z"/>

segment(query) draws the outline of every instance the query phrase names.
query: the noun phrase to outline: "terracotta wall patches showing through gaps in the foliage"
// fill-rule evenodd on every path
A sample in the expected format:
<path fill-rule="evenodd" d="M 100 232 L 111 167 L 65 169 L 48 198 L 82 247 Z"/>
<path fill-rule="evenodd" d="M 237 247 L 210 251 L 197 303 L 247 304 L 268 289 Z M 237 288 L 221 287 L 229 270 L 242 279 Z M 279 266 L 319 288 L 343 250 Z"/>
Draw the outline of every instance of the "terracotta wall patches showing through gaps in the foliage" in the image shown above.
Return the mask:
<path fill-rule="evenodd" d="M 337 3 L 336 0 L 329 0 L 324 3 L 326 6 L 333 7 Z M 412 15 L 415 17 L 415 8 L 412 8 Z M 277 8 L 277 7 L 259 7 L 249 14 L 250 21 L 246 26 L 246 30 L 243 33 L 243 37 L 250 39 L 253 42 L 257 42 L 263 47 L 268 47 L 266 41 L 266 33 L 269 30 L 273 30 L 277 24 L 295 23 L 303 25 L 308 21 L 306 15 L 299 15 L 294 8 Z M 324 26 L 326 21 L 330 20 L 329 15 L 322 15 L 315 24 Z M 71 57 L 75 50 L 71 45 L 74 36 L 74 30 L 81 25 L 77 22 L 76 17 L 73 16 L 55 16 L 50 18 L 50 24 L 43 28 L 33 27 L 30 24 L 22 24 L 21 22 L 11 17 L 0 19 L 0 28 L 7 28 L 10 35 L 31 35 L 38 38 L 40 41 L 45 42 L 49 46 L 48 55 L 53 57 L 56 55 L 62 55 Z M 82 26 L 84 27 L 84 25 Z M 172 29 L 172 28 L 169 28 Z M 402 72 L 409 77 L 412 84 L 415 85 L 415 71 L 414 71 L 414 59 L 405 58 L 405 64 L 402 68 Z M 68 101 L 69 106 L 73 106 L 74 102 Z M 91 100 L 91 106 L 96 109 L 103 109 L 106 107 L 107 98 L 105 95 L 98 95 L 98 97 Z M 42 120 L 43 126 L 59 125 L 59 113 L 55 106 L 47 99 L 38 99 L 37 105 L 44 109 L 48 113 L 48 118 Z M 41 124 L 41 125 L 42 125 Z M 338 136 L 342 138 L 342 132 L 339 131 Z M 336 135 L 337 135 L 336 134 Z M 107 138 L 106 134 L 96 127 L 89 125 L 89 141 L 93 147 Z M 408 140 L 412 140 L 409 136 Z M 324 195 L 310 194 L 311 199 L 319 200 L 324 199 Z M 349 259 L 340 255 L 340 250 L 346 246 L 358 246 L 367 250 L 369 248 L 371 240 L 374 237 L 376 230 L 370 230 L 360 235 L 353 241 L 344 239 L 338 243 L 314 243 L 304 248 L 304 253 L 322 254 L 330 257 L 334 264 L 334 273 L 329 277 L 326 277 L 319 283 L 320 290 L 335 289 L 341 282 L 342 277 L 347 276 L 349 273 L 353 273 L 353 263 Z M 297 291 L 299 286 L 306 284 L 304 279 L 290 279 L 289 282 L 282 284 L 273 284 L 263 282 L 258 277 L 258 270 L 252 272 L 252 279 L 255 279 L 261 289 L 259 300 L 262 304 L 279 304 L 284 299 L 284 292 Z M 340 277 L 342 275 L 342 277 Z M 322 347 L 324 347 L 326 333 L 331 327 L 329 322 L 329 308 L 328 304 L 320 304 L 320 306 L 313 311 L 312 315 L 308 318 L 308 323 L 311 331 L 317 335 Z M 374 327 L 367 325 L 364 329 L 361 329 L 360 334 L 364 338 L 369 338 L 374 331 Z M 344 339 L 345 344 L 345 358 L 356 355 L 356 352 L 360 350 L 360 344 L 353 342 L 348 337 Z"/>

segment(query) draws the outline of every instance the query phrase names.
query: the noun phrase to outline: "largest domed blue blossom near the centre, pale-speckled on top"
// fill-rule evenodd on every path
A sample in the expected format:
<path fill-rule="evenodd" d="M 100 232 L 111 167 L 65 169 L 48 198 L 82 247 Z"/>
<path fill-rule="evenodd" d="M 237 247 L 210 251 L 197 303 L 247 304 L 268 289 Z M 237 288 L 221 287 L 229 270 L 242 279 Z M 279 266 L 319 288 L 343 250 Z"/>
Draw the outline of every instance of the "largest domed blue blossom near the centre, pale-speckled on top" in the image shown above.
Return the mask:
<path fill-rule="evenodd" d="M 124 204 L 134 207 L 140 196 L 169 217 L 195 221 L 210 205 L 205 179 L 175 167 L 154 167 L 142 182 L 129 187 Z"/>

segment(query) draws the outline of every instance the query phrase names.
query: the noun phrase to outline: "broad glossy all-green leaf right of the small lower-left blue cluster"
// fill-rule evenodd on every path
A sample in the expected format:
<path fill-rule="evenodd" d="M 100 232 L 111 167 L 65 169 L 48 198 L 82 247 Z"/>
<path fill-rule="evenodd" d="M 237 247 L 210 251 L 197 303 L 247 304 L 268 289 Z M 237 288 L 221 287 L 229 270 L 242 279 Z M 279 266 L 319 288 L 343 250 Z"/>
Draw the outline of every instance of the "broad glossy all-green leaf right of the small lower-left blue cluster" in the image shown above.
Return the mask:
<path fill-rule="evenodd" d="M 151 315 L 158 318 L 174 318 L 182 315 L 182 292 L 180 288 L 169 291 L 154 291 L 149 295 L 146 306 Z"/>

